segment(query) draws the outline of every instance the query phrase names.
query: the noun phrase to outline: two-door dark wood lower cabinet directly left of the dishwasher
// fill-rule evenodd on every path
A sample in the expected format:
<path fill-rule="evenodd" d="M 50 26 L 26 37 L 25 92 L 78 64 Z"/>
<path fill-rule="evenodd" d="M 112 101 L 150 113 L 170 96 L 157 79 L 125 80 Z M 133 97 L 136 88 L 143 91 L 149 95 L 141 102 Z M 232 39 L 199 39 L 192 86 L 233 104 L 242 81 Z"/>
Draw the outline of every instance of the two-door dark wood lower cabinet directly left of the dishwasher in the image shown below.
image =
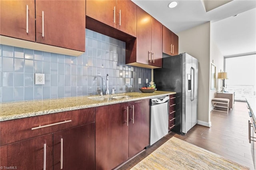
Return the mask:
<path fill-rule="evenodd" d="M 96 169 L 113 169 L 148 146 L 149 126 L 149 99 L 96 107 Z"/>

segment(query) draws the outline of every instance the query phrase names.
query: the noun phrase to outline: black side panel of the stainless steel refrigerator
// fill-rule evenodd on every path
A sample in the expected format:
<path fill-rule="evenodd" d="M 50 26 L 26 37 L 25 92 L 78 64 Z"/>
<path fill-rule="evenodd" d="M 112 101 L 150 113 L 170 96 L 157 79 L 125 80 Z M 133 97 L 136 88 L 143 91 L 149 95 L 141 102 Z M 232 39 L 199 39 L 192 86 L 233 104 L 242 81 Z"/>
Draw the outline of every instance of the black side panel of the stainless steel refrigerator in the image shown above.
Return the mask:
<path fill-rule="evenodd" d="M 174 91 L 175 127 L 173 132 L 182 134 L 182 55 L 163 58 L 163 66 L 154 69 L 154 82 L 159 91 Z"/>

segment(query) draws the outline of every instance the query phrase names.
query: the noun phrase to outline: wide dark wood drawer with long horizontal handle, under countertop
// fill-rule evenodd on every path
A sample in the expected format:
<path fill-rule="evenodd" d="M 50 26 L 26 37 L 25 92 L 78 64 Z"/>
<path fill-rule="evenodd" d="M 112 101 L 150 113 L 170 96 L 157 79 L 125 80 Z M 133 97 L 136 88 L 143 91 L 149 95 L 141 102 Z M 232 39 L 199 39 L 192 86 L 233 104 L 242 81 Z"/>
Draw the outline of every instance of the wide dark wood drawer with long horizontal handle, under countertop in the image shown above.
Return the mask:
<path fill-rule="evenodd" d="M 92 122 L 95 122 L 95 108 L 3 121 L 0 126 L 0 145 Z"/>

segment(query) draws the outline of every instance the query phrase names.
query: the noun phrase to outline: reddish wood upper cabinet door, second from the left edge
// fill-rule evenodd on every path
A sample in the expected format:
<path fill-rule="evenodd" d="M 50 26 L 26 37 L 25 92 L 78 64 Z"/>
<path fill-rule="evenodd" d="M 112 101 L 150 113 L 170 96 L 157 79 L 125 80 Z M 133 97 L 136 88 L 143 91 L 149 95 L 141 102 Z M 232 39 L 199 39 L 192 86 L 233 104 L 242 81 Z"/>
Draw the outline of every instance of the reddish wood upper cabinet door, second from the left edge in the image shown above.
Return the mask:
<path fill-rule="evenodd" d="M 36 0 L 36 42 L 85 51 L 85 1 Z"/>

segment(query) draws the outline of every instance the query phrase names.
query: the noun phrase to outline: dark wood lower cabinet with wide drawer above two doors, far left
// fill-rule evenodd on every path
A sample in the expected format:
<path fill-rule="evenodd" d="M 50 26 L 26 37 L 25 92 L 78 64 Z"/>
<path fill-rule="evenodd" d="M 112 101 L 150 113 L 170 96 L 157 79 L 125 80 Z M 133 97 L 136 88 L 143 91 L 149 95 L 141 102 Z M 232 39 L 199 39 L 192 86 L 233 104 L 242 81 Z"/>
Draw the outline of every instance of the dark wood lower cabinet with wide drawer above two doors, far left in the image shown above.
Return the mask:
<path fill-rule="evenodd" d="M 61 123 L 64 120 L 67 122 Z M 0 166 L 3 169 L 59 170 L 61 164 L 63 170 L 95 169 L 95 108 L 0 124 Z"/>

